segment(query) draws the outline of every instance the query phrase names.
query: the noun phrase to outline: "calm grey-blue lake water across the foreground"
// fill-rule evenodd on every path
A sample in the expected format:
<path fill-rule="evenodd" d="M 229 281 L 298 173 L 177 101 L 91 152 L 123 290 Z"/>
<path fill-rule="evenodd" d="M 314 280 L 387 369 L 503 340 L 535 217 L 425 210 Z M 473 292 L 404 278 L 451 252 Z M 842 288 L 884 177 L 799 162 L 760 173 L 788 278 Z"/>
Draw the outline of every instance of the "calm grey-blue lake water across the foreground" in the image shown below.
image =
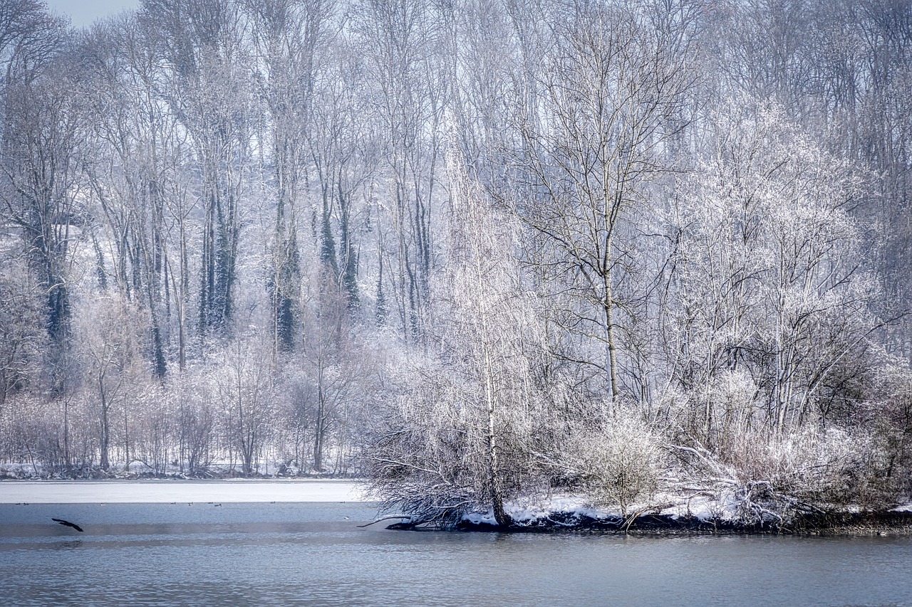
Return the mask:
<path fill-rule="evenodd" d="M 0 604 L 912 606 L 907 538 L 356 527 L 373 516 L 358 503 L 0 505 Z"/>

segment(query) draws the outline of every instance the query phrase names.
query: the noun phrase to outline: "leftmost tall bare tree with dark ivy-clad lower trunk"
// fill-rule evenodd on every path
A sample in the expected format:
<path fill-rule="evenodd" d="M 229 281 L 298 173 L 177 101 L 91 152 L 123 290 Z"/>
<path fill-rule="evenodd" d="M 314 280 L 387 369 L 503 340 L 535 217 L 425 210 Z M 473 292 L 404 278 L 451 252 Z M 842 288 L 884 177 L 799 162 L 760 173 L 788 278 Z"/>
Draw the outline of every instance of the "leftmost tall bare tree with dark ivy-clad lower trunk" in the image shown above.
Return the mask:
<path fill-rule="evenodd" d="M 45 293 L 47 364 L 55 369 L 52 383 L 59 393 L 72 312 L 69 269 L 85 221 L 78 201 L 83 112 L 71 94 L 81 86 L 72 65 L 63 57 L 46 60 L 40 70 L 7 78 L 14 84 L 6 89 L 0 195 L 5 219 L 22 235 L 31 271 Z M 32 68 L 24 63 L 23 70 Z"/>

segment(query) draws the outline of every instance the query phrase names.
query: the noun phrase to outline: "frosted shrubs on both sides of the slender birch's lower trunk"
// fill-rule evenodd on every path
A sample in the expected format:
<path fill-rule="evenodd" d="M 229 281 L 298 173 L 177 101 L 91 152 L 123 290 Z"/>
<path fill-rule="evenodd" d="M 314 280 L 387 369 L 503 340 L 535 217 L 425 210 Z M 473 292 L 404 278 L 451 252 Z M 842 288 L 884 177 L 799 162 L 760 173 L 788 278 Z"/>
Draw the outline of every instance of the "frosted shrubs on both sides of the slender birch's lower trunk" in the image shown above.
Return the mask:
<path fill-rule="evenodd" d="M 500 386 L 515 381 L 504 375 Z M 544 494 L 541 441 L 555 434 L 544 398 L 511 384 L 501 395 L 524 398 L 503 398 L 490 415 L 476 385 L 430 356 L 389 384 L 399 395 L 375 407 L 358 462 L 382 511 L 451 528 L 492 510 L 495 491 L 504 503 Z"/>

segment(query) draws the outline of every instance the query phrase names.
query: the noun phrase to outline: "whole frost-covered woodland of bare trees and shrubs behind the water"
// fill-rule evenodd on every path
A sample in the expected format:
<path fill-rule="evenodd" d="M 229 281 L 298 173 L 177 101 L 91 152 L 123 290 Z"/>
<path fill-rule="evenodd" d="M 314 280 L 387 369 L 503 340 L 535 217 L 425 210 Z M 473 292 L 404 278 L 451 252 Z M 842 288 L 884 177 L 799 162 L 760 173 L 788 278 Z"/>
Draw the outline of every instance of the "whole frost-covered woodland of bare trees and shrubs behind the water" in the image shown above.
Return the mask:
<path fill-rule="evenodd" d="M 909 496 L 908 0 L 2 0 L 0 68 L 7 476 Z"/>

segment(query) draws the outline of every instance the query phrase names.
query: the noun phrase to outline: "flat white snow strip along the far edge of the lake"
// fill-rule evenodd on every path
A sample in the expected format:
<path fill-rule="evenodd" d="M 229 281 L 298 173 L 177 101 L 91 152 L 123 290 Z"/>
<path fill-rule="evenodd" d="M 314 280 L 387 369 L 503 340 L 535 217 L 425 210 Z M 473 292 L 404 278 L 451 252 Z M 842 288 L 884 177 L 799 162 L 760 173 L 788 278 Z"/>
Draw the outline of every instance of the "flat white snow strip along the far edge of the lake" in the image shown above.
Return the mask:
<path fill-rule="evenodd" d="M 0 503 L 366 501 L 351 480 L 4 480 Z"/>

